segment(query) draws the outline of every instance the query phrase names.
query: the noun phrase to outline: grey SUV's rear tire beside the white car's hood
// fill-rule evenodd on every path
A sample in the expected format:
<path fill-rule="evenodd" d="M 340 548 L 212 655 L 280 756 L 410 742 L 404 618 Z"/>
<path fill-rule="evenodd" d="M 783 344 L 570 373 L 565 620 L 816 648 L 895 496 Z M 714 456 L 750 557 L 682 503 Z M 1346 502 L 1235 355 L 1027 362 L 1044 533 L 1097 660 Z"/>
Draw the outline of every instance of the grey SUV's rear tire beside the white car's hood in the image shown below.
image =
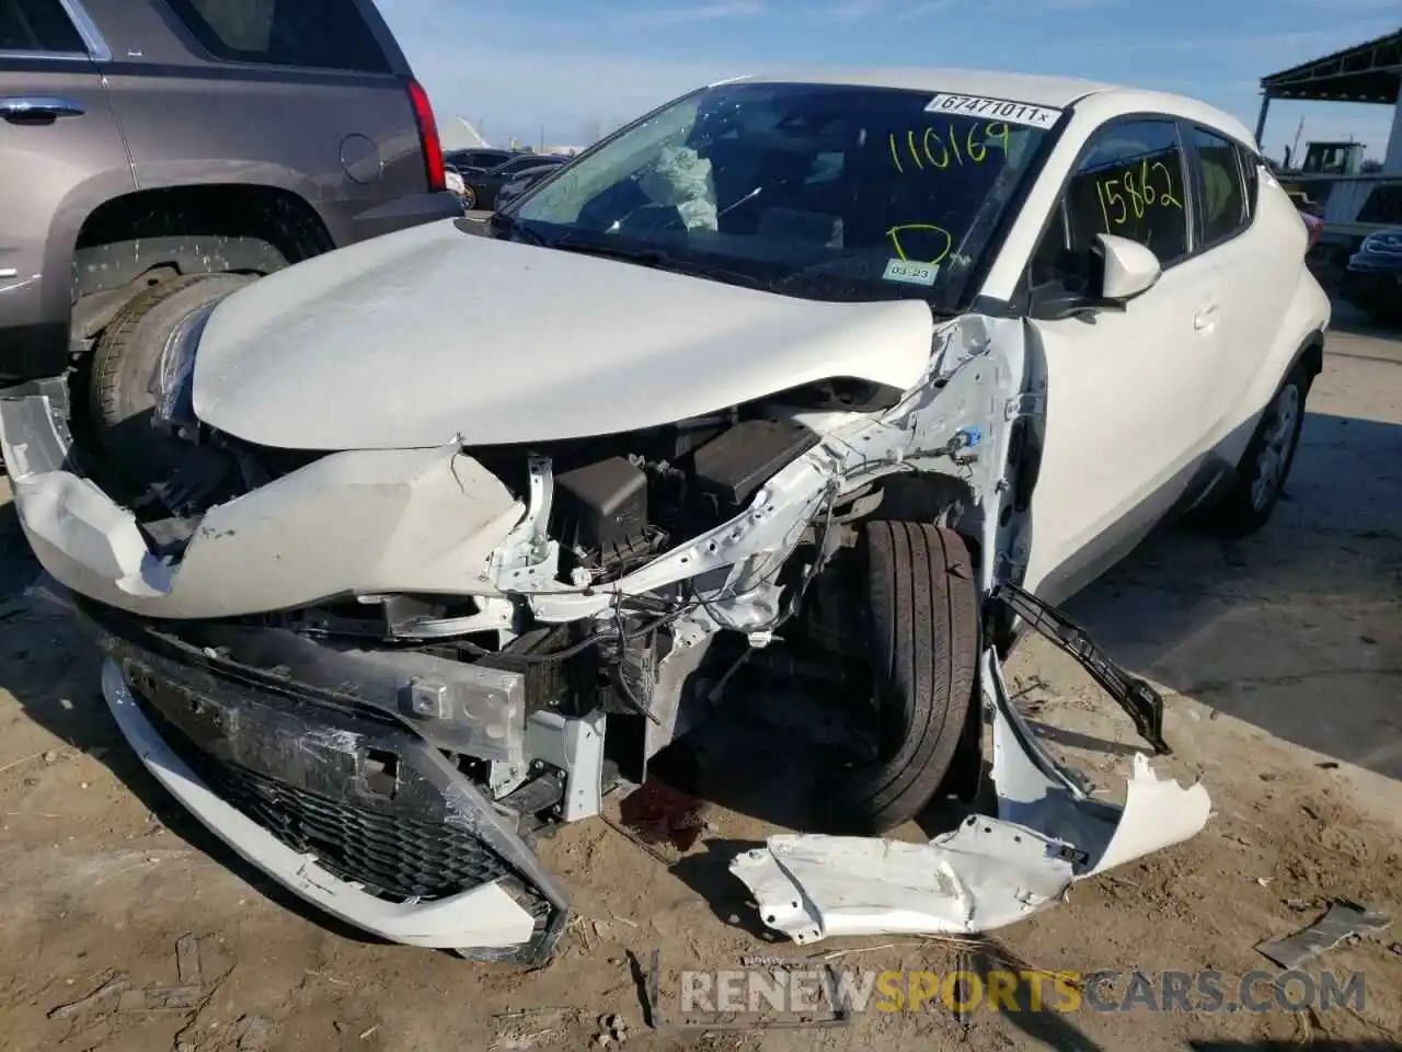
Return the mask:
<path fill-rule="evenodd" d="M 243 274 L 174 278 L 133 297 L 93 352 L 90 408 L 105 459 L 136 487 L 170 477 L 184 449 L 154 426 L 153 379 L 165 344 L 200 307 L 254 281 Z"/>

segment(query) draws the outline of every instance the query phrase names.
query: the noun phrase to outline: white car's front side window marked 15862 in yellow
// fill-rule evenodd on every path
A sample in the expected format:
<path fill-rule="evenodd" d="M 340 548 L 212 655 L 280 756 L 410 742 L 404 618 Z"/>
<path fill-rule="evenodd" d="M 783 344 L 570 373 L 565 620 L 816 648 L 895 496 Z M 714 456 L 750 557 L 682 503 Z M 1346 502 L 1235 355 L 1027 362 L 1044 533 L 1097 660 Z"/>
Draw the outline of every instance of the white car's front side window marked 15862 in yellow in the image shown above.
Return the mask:
<path fill-rule="evenodd" d="M 1183 150 L 1168 119 L 1120 121 L 1098 130 L 1066 191 L 1071 251 L 1096 234 L 1138 241 L 1168 267 L 1187 255 Z"/>

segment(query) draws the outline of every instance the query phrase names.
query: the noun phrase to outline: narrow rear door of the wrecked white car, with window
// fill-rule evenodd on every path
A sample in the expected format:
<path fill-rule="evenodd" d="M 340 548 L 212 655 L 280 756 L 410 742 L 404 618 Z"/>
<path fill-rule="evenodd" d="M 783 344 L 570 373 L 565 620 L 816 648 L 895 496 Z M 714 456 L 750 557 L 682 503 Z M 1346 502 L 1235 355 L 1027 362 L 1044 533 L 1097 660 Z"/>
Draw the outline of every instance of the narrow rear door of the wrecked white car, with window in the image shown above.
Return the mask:
<path fill-rule="evenodd" d="M 1235 435 L 1225 452 L 1239 456 L 1249 435 L 1237 433 L 1245 424 L 1238 417 L 1288 317 L 1308 241 L 1294 216 L 1284 223 L 1256 222 L 1260 161 L 1253 150 L 1211 128 L 1185 130 L 1197 187 L 1199 251 L 1223 285 L 1217 383 L 1224 415 L 1214 421 L 1211 438 L 1216 445 Z"/>

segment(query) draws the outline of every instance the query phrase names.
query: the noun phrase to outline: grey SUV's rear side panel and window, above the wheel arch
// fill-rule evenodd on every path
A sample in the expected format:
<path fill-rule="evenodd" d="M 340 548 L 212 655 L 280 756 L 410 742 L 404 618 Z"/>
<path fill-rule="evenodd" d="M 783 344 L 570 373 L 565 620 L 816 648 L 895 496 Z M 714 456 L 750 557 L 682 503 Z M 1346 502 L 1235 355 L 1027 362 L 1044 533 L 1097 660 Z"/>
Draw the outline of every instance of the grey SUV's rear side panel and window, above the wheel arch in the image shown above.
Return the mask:
<path fill-rule="evenodd" d="M 352 216 L 428 191 L 409 69 L 372 0 L 88 0 L 142 188 L 264 184 Z"/>

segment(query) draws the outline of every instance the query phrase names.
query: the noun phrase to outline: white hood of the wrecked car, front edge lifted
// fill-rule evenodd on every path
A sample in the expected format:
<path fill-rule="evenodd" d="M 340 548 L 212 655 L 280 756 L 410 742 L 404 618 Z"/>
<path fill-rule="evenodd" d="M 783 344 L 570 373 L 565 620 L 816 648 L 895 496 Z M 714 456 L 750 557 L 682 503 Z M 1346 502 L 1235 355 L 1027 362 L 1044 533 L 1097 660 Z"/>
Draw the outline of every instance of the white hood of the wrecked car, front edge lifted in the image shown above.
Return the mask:
<path fill-rule="evenodd" d="M 339 248 L 220 303 L 195 412 L 285 449 L 547 442 L 670 424 L 854 377 L 906 390 L 921 302 L 816 303 L 464 233 Z"/>

